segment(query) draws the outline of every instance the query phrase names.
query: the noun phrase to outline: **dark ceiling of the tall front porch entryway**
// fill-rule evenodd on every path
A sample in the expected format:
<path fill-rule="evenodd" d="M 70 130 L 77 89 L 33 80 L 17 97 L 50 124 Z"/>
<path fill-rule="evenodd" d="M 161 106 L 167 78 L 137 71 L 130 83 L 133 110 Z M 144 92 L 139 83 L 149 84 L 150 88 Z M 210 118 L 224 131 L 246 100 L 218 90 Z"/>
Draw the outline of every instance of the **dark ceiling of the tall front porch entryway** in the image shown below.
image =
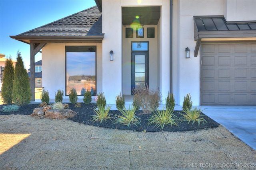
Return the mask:
<path fill-rule="evenodd" d="M 138 16 L 136 18 L 136 16 Z M 146 7 L 123 7 L 122 24 L 123 25 L 157 25 L 160 18 L 160 6 Z"/>

